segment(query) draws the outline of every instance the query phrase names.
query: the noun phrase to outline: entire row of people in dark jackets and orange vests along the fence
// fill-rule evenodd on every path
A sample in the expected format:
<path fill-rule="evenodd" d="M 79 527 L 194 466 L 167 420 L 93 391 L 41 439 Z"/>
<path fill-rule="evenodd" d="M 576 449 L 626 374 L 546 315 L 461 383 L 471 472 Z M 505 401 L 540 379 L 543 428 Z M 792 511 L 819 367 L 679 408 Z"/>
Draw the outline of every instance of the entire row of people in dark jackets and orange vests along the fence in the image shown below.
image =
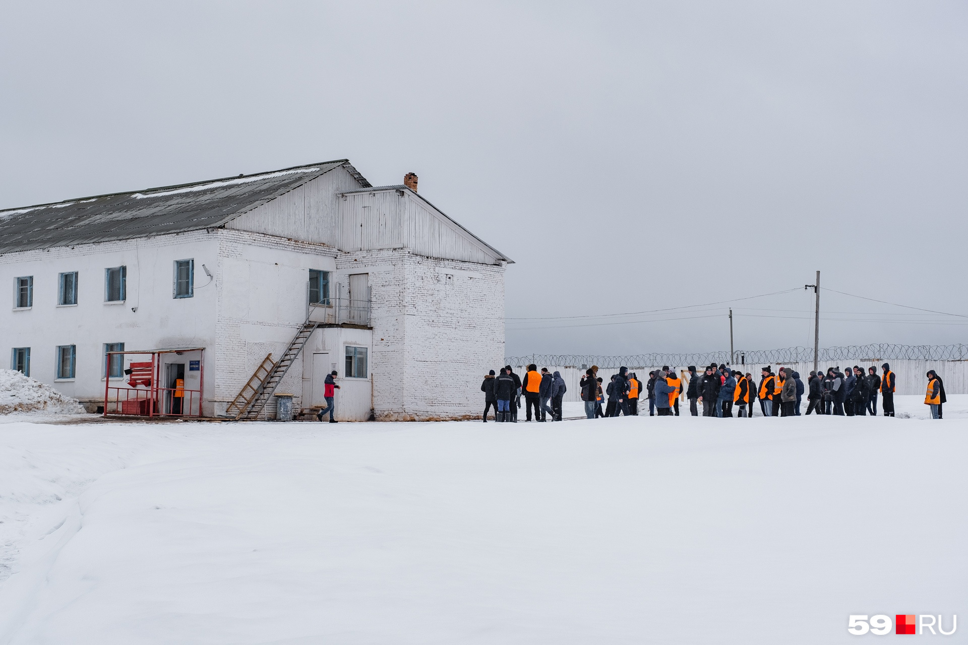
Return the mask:
<path fill-rule="evenodd" d="M 893 417 L 895 377 L 889 364 L 885 363 L 881 369 L 881 374 L 873 366 L 866 372 L 861 366 L 848 367 L 846 373 L 840 371 L 840 367 L 830 367 L 826 374 L 810 371 L 804 385 L 800 373 L 790 367 L 779 367 L 775 372 L 771 366 L 764 367 L 758 384 L 750 372 L 743 373 L 725 365 L 713 364 L 702 373 L 695 366 L 689 366 L 688 374 L 681 376 L 669 366 L 663 366 L 650 371 L 646 383 L 627 367 L 620 367 L 619 373 L 613 374 L 603 387 L 598 366 L 590 366 L 580 386 L 585 415 L 589 419 L 622 414 L 636 416 L 642 396 L 649 398 L 650 416 L 679 416 L 683 380 L 689 413 L 693 417 L 699 416 L 700 405 L 704 417 L 732 417 L 734 410 L 738 417 L 751 417 L 754 401 L 759 401 L 766 417 L 800 416 L 804 394 L 808 402 L 805 414 L 876 416 L 880 395 L 884 416 Z M 948 400 L 944 381 L 933 369 L 926 375 L 924 403 L 930 406 L 932 419 L 941 419 L 942 406 Z M 532 408 L 535 421 L 545 421 L 546 412 L 552 421 L 561 421 L 561 400 L 566 390 L 560 373 L 549 373 L 547 367 L 542 367 L 539 372 L 537 366 L 529 365 L 523 380 L 511 366 L 501 367 L 497 376 L 491 370 L 481 385 L 485 394 L 484 421 L 487 422 L 488 411 L 493 405 L 497 421 L 517 422 L 522 394 L 526 399 L 527 421 L 531 420 Z"/>

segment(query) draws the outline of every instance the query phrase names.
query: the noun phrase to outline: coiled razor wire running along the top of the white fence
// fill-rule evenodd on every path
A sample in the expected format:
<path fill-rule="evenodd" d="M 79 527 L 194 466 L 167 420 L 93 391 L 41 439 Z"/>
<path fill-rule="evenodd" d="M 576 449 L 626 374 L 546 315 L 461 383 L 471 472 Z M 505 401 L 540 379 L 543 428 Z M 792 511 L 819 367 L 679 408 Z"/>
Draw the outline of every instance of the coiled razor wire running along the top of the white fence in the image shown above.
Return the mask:
<path fill-rule="evenodd" d="M 896 345 L 890 343 L 870 345 L 844 345 L 825 347 L 819 352 L 819 360 L 828 361 L 964 361 L 968 360 L 968 345 Z M 760 365 L 768 363 L 806 363 L 813 361 L 813 347 L 785 347 L 782 349 L 736 350 L 729 352 L 705 352 L 695 354 L 631 354 L 627 356 L 594 356 L 584 354 L 531 354 L 508 356 L 504 363 L 510 366 L 530 364 L 541 366 L 599 366 L 599 367 L 649 367 L 649 366 L 705 366 L 720 364 Z"/>

